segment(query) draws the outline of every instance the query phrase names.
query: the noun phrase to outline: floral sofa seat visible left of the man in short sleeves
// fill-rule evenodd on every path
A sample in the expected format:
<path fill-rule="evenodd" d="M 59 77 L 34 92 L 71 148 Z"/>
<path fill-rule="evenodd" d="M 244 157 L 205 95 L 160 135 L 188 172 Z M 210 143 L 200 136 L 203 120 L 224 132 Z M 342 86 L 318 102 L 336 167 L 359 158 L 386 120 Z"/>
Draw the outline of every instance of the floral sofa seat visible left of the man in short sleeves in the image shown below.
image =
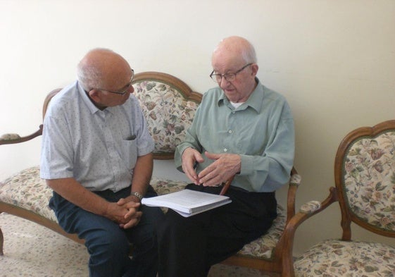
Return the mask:
<path fill-rule="evenodd" d="M 39 167 L 26 168 L 0 183 L 0 200 L 40 216 L 56 221 L 55 213 L 49 206 L 52 190 L 42 178 L 39 178 Z"/>

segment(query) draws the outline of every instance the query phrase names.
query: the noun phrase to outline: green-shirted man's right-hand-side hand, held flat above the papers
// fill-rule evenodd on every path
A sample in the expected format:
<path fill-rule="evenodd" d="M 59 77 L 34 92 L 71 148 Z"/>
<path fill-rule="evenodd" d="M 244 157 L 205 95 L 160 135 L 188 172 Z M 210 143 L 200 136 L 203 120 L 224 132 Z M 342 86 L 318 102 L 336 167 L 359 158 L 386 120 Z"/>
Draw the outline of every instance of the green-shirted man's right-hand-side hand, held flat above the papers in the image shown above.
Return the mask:
<path fill-rule="evenodd" d="M 199 173 L 199 183 L 215 186 L 225 183 L 242 168 L 242 158 L 238 154 L 213 154 L 205 152 L 208 159 L 215 160 Z"/>

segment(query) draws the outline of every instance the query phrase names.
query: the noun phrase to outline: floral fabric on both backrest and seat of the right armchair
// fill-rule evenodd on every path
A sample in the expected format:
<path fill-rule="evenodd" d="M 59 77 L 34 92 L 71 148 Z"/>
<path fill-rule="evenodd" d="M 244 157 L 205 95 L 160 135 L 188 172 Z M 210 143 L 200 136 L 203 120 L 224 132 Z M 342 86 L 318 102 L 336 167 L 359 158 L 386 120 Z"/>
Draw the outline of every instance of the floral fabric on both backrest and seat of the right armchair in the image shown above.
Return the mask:
<path fill-rule="evenodd" d="M 346 149 L 342 187 L 349 211 L 375 228 L 395 231 L 395 131 L 360 137 Z M 296 277 L 395 276 L 395 247 L 325 240 L 294 262 Z"/>

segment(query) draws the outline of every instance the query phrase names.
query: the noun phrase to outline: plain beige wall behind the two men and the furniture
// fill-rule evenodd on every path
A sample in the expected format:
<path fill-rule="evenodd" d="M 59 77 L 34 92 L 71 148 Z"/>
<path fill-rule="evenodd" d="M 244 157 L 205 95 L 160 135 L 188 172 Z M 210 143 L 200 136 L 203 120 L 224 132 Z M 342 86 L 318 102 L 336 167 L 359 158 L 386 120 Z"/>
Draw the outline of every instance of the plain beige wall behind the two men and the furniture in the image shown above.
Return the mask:
<path fill-rule="evenodd" d="M 0 35 L 0 134 L 21 135 L 38 127 L 46 93 L 75 79 L 89 49 L 111 48 L 137 73 L 170 73 L 203 93 L 215 85 L 208 74 L 217 42 L 250 39 L 258 78 L 294 112 L 298 206 L 327 195 L 349 130 L 395 117 L 393 0 L 0 0 Z M 0 179 L 38 164 L 39 145 L 1 147 Z M 184 178 L 167 162 L 155 172 Z M 284 190 L 278 195 L 282 202 Z M 338 211 L 304 223 L 295 253 L 339 237 Z"/>

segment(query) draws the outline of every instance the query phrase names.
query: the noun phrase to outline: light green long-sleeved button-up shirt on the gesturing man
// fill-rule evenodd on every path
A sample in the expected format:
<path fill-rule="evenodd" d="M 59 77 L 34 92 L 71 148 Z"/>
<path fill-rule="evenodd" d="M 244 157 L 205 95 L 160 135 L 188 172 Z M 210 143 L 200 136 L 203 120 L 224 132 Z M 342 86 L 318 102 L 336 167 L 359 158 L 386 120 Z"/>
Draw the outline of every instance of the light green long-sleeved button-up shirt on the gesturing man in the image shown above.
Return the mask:
<path fill-rule="evenodd" d="M 258 85 L 249 99 L 234 109 L 220 87 L 208 90 L 185 141 L 177 146 L 175 166 L 187 147 L 203 154 L 200 172 L 213 161 L 204 152 L 239 154 L 242 169 L 232 186 L 251 192 L 272 192 L 286 184 L 294 163 L 294 120 L 287 100 L 277 92 Z"/>

